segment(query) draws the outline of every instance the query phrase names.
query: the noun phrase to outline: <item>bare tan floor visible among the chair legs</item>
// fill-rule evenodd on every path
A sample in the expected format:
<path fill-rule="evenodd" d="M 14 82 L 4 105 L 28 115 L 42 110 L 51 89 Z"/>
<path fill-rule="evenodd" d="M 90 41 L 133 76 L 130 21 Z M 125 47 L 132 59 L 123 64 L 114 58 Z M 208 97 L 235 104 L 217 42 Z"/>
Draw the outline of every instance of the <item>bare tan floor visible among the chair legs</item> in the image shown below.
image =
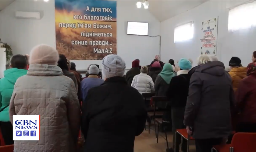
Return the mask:
<path fill-rule="evenodd" d="M 168 133 L 167 138 L 170 148 L 172 147 L 172 134 Z M 166 148 L 165 134 L 159 133 L 158 143 L 156 143 L 155 130 L 153 129 L 150 130 L 150 134 L 147 129 L 135 138 L 134 152 L 165 152 Z M 190 142 L 189 152 L 196 152 L 193 141 Z"/>

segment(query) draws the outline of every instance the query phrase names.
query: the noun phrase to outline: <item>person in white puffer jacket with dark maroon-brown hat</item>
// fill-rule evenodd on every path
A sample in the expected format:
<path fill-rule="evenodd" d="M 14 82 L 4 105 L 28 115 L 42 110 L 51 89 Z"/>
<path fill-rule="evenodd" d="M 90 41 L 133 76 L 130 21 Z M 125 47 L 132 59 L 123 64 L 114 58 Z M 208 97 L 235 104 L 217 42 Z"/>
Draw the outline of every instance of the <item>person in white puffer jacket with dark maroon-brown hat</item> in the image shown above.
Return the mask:
<path fill-rule="evenodd" d="M 147 74 L 148 67 L 141 67 L 140 72 L 140 74 L 133 77 L 131 86 L 137 89 L 140 92 L 140 94 L 155 92 L 154 82 L 152 78 Z"/>

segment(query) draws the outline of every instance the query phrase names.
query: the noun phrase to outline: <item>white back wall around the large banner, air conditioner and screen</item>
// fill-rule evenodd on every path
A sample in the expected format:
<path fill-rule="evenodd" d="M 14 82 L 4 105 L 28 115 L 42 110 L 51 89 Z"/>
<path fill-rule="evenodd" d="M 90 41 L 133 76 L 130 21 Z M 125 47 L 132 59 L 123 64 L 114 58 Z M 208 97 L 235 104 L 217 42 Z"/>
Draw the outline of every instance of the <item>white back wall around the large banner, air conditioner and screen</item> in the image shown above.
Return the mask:
<path fill-rule="evenodd" d="M 117 1 L 117 54 L 126 62 L 126 68 L 136 58 L 141 65 L 148 65 L 159 54 L 159 38 L 126 35 L 127 21 L 149 22 L 149 35 L 160 35 L 160 22 L 148 10 L 137 9 L 137 1 Z M 16 19 L 16 11 L 40 12 L 41 20 Z M 1 11 L 0 32 L 2 40 L 12 46 L 14 54 L 29 54 L 41 43 L 55 47 L 54 1 L 16 0 Z M 3 22 L 4 21 L 4 22 Z M 76 60 L 79 70 L 101 60 Z"/>

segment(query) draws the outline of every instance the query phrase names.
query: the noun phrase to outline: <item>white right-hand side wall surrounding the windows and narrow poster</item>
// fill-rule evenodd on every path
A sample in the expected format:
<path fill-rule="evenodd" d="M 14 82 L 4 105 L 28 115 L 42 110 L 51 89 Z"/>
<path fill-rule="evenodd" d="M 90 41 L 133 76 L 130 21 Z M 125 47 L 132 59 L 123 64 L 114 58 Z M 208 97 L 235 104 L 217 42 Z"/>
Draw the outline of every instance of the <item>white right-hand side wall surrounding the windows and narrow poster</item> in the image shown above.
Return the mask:
<path fill-rule="evenodd" d="M 219 16 L 217 57 L 228 66 L 232 56 L 239 57 L 243 66 L 251 62 L 251 55 L 256 50 L 256 28 L 228 32 L 228 8 L 240 5 L 241 0 L 208 1 L 178 16 L 161 22 L 161 56 L 163 61 L 180 58 L 192 58 L 195 66 L 200 55 L 201 22 Z M 194 21 L 194 38 L 185 42 L 174 43 L 174 28 Z"/>

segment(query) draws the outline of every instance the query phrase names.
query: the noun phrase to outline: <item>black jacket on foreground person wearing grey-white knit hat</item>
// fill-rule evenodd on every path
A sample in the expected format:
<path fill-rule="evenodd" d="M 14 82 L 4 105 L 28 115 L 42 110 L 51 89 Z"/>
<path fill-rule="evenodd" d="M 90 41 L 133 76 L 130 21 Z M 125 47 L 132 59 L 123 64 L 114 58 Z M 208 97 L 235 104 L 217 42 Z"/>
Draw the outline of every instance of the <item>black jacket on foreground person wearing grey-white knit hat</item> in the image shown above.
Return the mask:
<path fill-rule="evenodd" d="M 147 112 L 142 95 L 125 78 L 108 78 L 91 88 L 82 104 L 85 152 L 133 152 Z"/>

